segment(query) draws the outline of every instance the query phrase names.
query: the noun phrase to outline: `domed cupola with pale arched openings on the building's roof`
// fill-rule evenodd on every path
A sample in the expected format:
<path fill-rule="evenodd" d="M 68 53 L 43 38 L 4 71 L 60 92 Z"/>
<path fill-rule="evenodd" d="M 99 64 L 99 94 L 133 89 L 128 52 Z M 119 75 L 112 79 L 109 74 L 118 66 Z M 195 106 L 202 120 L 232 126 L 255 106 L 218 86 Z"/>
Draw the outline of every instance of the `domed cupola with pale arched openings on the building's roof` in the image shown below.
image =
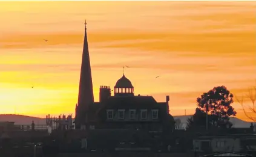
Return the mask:
<path fill-rule="evenodd" d="M 116 82 L 114 96 L 134 96 L 133 84 L 125 77 L 125 74 Z"/>

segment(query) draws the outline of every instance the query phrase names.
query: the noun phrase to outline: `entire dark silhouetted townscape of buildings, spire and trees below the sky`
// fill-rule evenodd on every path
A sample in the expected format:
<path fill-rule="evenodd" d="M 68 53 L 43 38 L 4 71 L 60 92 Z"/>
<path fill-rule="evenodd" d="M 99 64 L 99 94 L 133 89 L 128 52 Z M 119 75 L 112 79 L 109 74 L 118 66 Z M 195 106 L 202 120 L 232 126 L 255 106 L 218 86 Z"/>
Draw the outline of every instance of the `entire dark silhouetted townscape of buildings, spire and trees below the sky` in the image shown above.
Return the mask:
<path fill-rule="evenodd" d="M 198 107 L 184 127 L 169 114 L 169 96 L 157 102 L 135 95 L 125 70 L 114 87 L 99 87 L 94 102 L 89 56 L 85 25 L 75 117 L 48 114 L 45 125 L 0 122 L 0 156 L 255 156 L 254 124 L 232 127 L 234 96 L 225 86 L 195 97 Z"/>

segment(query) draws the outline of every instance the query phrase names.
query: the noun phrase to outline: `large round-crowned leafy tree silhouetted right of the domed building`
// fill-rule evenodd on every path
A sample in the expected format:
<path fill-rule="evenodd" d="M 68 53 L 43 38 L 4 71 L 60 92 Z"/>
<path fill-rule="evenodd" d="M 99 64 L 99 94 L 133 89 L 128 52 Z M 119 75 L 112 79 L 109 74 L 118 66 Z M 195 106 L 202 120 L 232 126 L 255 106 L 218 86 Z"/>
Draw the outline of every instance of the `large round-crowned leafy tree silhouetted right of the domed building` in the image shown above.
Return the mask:
<path fill-rule="evenodd" d="M 211 115 L 209 122 L 212 125 L 218 127 L 229 125 L 231 127 L 229 116 L 237 114 L 231 106 L 231 103 L 234 102 L 233 97 L 233 94 L 222 85 L 203 93 L 201 97 L 197 97 L 197 106 L 203 112 Z"/>

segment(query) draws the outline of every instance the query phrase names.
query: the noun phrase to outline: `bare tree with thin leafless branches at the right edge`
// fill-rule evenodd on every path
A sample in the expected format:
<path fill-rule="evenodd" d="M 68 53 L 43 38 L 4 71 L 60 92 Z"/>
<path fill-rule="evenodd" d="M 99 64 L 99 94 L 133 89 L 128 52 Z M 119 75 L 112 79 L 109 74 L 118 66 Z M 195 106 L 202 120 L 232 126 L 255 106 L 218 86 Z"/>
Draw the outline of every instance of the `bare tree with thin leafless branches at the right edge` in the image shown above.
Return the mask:
<path fill-rule="evenodd" d="M 243 112 L 245 113 L 246 117 L 248 117 L 249 119 L 251 119 L 253 122 L 256 122 L 256 87 L 253 87 L 251 89 L 248 90 L 248 94 L 246 94 L 245 96 L 241 96 L 241 97 L 235 97 L 235 99 L 237 100 L 238 103 L 240 103 L 240 105 L 243 108 Z M 250 105 L 245 103 L 245 100 L 250 101 Z"/>

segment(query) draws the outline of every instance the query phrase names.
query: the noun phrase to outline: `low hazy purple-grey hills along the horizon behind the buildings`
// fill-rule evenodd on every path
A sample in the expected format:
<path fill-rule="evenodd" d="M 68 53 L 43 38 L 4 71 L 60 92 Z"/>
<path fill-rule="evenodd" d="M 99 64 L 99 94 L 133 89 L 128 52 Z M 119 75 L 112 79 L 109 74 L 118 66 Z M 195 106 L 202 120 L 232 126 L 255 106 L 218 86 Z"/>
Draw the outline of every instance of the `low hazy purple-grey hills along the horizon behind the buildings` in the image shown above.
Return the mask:
<path fill-rule="evenodd" d="M 186 126 L 187 119 L 191 115 L 177 115 L 174 116 L 174 119 L 180 119 L 183 124 L 183 127 Z M 15 114 L 0 114 L 0 122 L 8 121 L 15 122 L 16 125 L 31 125 L 32 120 L 36 125 L 45 125 L 45 119 L 38 117 L 30 117 L 27 115 L 15 115 Z M 251 125 L 251 122 L 245 122 L 236 117 L 231 117 L 230 121 L 233 123 L 234 128 L 248 128 Z"/>

